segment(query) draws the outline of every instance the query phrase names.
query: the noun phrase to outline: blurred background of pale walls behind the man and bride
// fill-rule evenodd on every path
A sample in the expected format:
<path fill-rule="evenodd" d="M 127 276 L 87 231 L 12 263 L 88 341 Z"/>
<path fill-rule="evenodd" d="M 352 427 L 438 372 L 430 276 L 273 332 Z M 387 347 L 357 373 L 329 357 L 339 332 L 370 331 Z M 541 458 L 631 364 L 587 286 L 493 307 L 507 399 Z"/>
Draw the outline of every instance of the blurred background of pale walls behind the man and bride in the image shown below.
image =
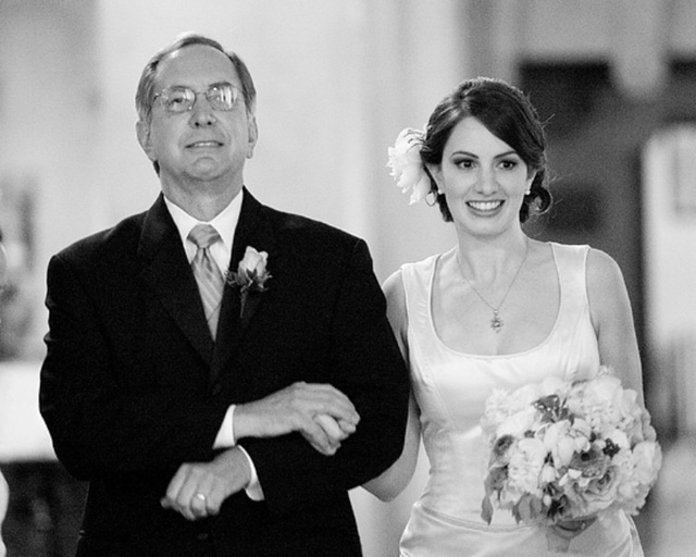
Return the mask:
<path fill-rule="evenodd" d="M 150 207 L 134 96 L 185 30 L 237 51 L 259 90 L 246 184 L 262 201 L 364 237 L 375 272 L 449 248 L 439 212 L 385 168 L 457 83 L 530 95 L 550 143 L 551 212 L 534 237 L 591 244 L 622 267 L 664 449 L 636 518 L 646 557 L 696 545 L 696 2 L 693 0 L 0 0 L 0 468 L 10 557 L 72 555 L 85 486 L 38 416 L 52 253 Z M 89 349 L 89 347 L 85 347 Z M 365 557 L 398 555 L 427 463 L 396 502 L 351 495 Z"/>

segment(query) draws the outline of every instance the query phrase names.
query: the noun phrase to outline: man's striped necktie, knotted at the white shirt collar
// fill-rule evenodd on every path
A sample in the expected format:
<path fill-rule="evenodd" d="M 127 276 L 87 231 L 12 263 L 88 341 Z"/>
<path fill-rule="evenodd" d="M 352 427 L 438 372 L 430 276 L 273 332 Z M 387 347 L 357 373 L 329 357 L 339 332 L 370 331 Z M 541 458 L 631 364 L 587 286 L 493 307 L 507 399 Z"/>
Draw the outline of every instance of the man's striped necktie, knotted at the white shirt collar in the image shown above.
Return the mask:
<path fill-rule="evenodd" d="M 217 231 L 210 224 L 197 224 L 188 234 L 188 239 L 198 247 L 196 256 L 191 261 L 191 270 L 198 283 L 198 290 L 200 292 L 203 309 L 206 310 L 206 319 L 214 341 L 225 281 L 222 277 L 220 269 L 210 256 L 208 248 L 215 242 L 219 242 L 221 237 Z"/>

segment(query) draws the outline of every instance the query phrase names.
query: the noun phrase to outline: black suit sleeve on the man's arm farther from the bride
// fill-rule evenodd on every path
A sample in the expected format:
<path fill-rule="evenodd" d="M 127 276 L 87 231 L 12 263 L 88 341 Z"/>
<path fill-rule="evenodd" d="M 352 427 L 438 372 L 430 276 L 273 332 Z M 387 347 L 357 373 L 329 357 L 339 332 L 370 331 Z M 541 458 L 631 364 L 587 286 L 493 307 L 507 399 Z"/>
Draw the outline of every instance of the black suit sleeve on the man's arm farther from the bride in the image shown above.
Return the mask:
<path fill-rule="evenodd" d="M 57 456 L 85 480 L 209 459 L 226 405 L 202 392 L 124 384 L 114 331 L 126 327 L 120 315 L 104 315 L 97 302 L 105 289 L 90 286 L 72 262 L 51 259 L 39 404 Z"/>

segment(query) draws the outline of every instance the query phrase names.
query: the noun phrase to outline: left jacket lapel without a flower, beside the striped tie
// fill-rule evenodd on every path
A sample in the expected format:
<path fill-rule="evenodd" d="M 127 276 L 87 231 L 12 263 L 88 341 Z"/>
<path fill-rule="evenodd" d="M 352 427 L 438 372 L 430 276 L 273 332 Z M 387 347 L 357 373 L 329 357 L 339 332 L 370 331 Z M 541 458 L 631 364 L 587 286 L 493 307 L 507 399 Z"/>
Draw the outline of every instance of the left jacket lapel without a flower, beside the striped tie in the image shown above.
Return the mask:
<path fill-rule="evenodd" d="M 160 195 L 142 225 L 138 255 L 142 278 L 203 360 L 211 362 L 213 341 L 182 240 Z"/>

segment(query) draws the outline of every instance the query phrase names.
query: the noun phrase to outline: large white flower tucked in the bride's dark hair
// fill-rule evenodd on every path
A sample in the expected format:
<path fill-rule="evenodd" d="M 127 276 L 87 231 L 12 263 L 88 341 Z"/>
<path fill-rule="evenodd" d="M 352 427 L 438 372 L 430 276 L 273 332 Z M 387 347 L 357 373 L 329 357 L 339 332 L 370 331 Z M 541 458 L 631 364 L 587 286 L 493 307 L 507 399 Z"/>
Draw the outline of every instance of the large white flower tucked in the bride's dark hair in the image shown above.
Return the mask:
<path fill-rule="evenodd" d="M 407 127 L 396 138 L 394 147 L 387 150 L 389 174 L 402 193 L 412 190 L 411 205 L 424 199 L 431 191 L 431 181 L 421 160 L 424 135 L 420 129 Z"/>

